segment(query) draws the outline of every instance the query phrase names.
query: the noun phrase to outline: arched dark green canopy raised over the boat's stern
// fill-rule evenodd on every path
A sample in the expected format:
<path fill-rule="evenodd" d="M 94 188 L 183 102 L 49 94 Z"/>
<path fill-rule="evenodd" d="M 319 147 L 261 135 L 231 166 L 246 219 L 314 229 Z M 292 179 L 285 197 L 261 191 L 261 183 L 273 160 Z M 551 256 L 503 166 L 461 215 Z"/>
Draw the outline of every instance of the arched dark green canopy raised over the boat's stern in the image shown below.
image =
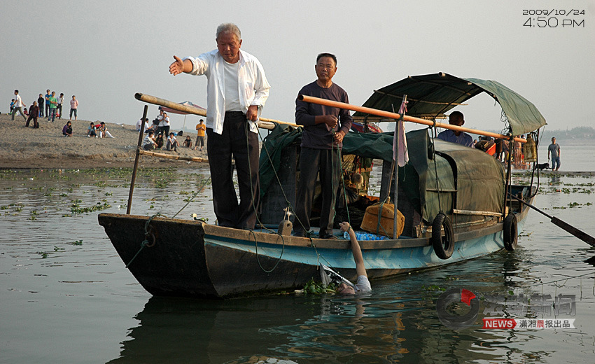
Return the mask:
<path fill-rule="evenodd" d="M 407 115 L 417 118 L 444 118 L 444 113 L 477 94 L 486 92 L 500 104 L 514 136 L 538 130 L 545 118 L 538 109 L 517 92 L 494 80 L 459 78 L 448 73 L 408 76 L 397 83 L 375 90 L 365 107 L 393 112 L 407 95 Z M 365 113 L 355 113 L 365 118 Z"/>

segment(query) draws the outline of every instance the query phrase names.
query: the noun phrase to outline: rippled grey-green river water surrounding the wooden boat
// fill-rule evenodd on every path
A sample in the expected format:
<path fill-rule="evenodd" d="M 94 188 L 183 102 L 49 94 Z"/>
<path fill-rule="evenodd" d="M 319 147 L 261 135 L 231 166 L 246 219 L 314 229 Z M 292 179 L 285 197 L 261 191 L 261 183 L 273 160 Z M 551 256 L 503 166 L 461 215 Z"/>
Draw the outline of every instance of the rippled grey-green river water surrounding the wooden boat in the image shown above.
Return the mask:
<path fill-rule="evenodd" d="M 190 166 L 144 170 L 132 213 L 172 216 L 207 176 L 207 169 Z M 584 262 L 595 248 L 535 211 L 514 253 L 372 281 L 366 297 L 188 300 L 151 297 L 97 223 L 99 209 L 125 213 L 130 169 L 0 171 L 0 179 L 0 363 L 592 363 L 595 357 L 595 267 Z M 540 182 L 537 207 L 595 235 L 594 177 L 558 174 Z M 212 223 L 210 198 L 207 184 L 179 217 L 196 213 Z M 440 322 L 436 302 L 450 288 L 482 297 L 471 327 L 455 331 Z M 496 295 L 512 304 L 500 316 L 575 319 L 575 328 L 484 329 L 482 318 L 499 317 L 485 300 Z"/>

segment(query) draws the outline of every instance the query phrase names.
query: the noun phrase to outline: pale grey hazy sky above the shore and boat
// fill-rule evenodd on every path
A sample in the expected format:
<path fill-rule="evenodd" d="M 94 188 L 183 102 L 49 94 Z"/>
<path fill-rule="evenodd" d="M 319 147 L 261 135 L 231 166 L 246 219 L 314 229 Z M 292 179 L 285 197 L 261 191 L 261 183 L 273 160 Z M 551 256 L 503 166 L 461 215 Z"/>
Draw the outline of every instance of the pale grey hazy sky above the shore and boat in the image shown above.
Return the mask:
<path fill-rule="evenodd" d="M 0 10 L 2 113 L 15 89 L 27 106 L 48 88 L 67 100 L 76 94 L 79 118 L 114 123 L 142 116 L 135 92 L 207 106 L 207 78 L 174 77 L 168 67 L 173 55 L 216 48 L 217 25 L 235 22 L 241 48 L 272 85 L 265 118 L 293 121 L 297 92 L 316 78 L 316 55 L 332 52 L 333 80 L 351 104 L 407 76 L 446 72 L 498 80 L 533 102 L 549 129 L 594 125 L 595 0 L 58 0 L 3 1 Z M 548 26 L 526 27 L 529 18 Z M 467 127 L 502 127 L 500 106 L 486 95 L 458 109 Z M 150 106 L 149 118 L 157 113 Z M 172 129 L 182 122 L 172 116 Z M 188 117 L 186 127 L 196 122 Z"/>

